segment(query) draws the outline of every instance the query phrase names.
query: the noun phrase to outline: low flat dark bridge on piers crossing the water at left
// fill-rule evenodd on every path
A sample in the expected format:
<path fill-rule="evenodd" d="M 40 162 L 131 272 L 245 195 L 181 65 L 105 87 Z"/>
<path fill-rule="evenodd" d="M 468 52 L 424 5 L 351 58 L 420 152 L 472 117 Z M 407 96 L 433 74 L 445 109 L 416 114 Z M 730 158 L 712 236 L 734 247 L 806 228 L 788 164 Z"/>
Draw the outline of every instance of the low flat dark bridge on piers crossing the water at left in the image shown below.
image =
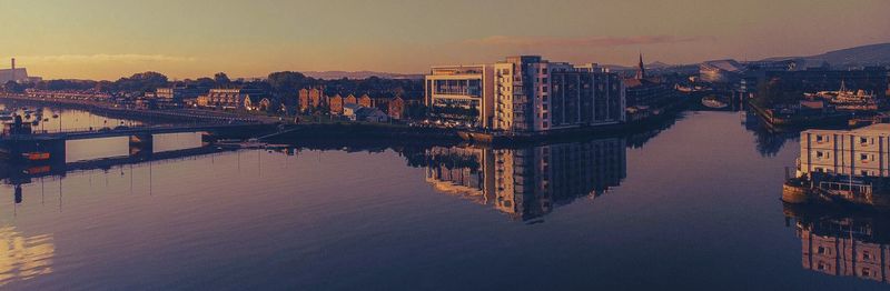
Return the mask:
<path fill-rule="evenodd" d="M 131 149 L 139 148 L 150 152 L 155 134 L 208 132 L 226 138 L 249 138 L 274 130 L 274 124 L 266 123 L 204 123 L 8 134 L 0 137 L 0 151 L 7 153 L 13 161 L 30 152 L 50 153 L 53 161 L 65 161 L 66 142 L 69 140 L 129 137 Z"/>

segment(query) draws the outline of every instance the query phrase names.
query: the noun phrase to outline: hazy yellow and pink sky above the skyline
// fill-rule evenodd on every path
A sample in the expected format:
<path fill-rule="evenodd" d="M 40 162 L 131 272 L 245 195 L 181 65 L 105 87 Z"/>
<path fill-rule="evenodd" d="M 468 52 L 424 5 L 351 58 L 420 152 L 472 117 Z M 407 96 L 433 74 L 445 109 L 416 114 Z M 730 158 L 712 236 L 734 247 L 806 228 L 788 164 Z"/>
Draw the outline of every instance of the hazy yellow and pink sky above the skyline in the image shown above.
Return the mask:
<path fill-rule="evenodd" d="M 0 0 L 0 60 L 44 79 L 424 73 L 514 54 L 695 63 L 890 42 L 888 0 Z"/>

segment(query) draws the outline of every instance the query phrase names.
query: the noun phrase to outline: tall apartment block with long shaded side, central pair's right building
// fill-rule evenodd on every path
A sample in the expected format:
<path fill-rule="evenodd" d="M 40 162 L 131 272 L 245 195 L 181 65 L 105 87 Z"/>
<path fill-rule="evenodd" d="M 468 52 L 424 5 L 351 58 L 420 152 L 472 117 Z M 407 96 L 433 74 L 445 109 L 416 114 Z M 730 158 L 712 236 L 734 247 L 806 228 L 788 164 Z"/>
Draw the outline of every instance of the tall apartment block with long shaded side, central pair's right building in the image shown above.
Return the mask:
<path fill-rule="evenodd" d="M 595 64 L 521 56 L 495 63 L 494 71 L 495 130 L 541 132 L 625 121 L 624 83 Z"/>

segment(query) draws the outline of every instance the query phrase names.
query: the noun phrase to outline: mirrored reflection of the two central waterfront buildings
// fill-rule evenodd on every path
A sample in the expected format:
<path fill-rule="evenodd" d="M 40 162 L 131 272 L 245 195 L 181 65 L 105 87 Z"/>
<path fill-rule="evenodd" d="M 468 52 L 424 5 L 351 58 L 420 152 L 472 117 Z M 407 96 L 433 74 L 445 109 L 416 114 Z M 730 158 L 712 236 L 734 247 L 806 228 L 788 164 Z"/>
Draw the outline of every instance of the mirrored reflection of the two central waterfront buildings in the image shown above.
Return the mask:
<path fill-rule="evenodd" d="M 625 141 L 603 139 L 523 149 L 434 147 L 426 181 L 436 190 L 534 221 L 577 198 L 595 198 L 626 177 Z"/>

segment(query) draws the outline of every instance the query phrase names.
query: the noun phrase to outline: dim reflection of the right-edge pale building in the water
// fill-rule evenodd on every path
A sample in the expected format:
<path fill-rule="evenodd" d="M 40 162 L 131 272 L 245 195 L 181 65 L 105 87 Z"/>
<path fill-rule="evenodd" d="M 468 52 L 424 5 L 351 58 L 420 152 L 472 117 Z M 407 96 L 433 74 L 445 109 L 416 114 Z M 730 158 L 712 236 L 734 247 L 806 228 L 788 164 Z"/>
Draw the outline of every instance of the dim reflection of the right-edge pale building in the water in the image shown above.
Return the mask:
<path fill-rule="evenodd" d="M 801 240 L 803 269 L 890 282 L 888 213 L 794 204 L 784 213 Z"/>

